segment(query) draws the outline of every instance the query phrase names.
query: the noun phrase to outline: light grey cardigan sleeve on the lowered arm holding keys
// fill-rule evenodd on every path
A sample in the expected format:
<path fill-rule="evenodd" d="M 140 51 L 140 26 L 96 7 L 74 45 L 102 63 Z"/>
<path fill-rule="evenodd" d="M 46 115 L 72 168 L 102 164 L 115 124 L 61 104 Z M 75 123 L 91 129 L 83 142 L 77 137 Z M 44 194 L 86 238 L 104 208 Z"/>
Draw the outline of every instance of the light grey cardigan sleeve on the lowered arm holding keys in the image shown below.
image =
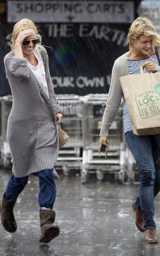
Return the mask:
<path fill-rule="evenodd" d="M 118 67 L 114 63 L 112 69 L 112 78 L 110 83 L 110 89 L 108 94 L 108 99 L 106 103 L 106 109 L 104 110 L 103 118 L 102 118 L 102 127 L 100 131 L 100 136 L 108 136 L 108 130 L 112 125 L 117 112 L 119 110 L 119 106 L 122 100 L 122 87 L 120 84 L 120 77 L 122 77 L 121 72 Z"/>

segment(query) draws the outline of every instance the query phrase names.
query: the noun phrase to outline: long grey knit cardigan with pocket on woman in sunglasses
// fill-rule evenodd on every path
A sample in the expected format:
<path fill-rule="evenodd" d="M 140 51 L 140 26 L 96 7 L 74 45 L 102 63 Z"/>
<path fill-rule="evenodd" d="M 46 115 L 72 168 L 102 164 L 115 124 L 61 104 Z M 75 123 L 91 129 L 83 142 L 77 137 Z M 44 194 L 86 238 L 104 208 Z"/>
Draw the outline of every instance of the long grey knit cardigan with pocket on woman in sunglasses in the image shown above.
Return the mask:
<path fill-rule="evenodd" d="M 58 125 L 55 114 L 61 108 L 51 82 L 48 55 L 40 51 L 46 73 L 49 97 L 42 90 L 26 58 L 16 58 L 14 51 L 4 58 L 13 104 L 8 118 L 7 141 L 10 146 L 13 174 L 24 177 L 51 169 L 58 158 Z"/>

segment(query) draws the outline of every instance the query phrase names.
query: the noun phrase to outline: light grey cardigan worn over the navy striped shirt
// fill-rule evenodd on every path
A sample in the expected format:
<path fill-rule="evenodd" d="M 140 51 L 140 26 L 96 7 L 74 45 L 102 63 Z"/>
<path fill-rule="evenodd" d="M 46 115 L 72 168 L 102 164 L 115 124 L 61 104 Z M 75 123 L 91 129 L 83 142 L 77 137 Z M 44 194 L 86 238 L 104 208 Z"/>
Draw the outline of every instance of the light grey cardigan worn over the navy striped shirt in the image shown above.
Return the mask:
<path fill-rule="evenodd" d="M 160 47 L 157 47 L 157 53 L 160 57 Z M 154 72 L 158 71 L 160 71 L 160 66 L 155 65 Z M 120 56 L 114 62 L 106 109 L 104 110 L 102 118 L 100 136 L 108 136 L 108 130 L 117 115 L 122 97 L 124 101 L 123 91 L 119 78 L 125 75 L 128 75 L 126 53 Z"/>

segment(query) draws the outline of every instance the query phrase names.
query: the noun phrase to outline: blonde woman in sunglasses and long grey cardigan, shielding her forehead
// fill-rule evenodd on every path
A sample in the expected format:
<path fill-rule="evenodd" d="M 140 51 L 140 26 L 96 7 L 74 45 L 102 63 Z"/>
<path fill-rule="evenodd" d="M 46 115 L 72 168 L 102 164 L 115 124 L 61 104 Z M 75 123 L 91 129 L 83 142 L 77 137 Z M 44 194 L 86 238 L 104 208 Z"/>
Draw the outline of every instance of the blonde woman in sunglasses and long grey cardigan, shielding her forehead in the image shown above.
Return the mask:
<path fill-rule="evenodd" d="M 4 58 L 13 104 L 8 118 L 7 140 L 13 174 L 0 203 L 2 225 L 17 229 L 13 207 L 28 182 L 29 174 L 39 178 L 40 242 L 59 235 L 54 223 L 56 198 L 54 164 L 58 158 L 58 124 L 61 108 L 56 100 L 48 66 L 48 55 L 34 22 L 22 19 L 14 25 L 11 52 Z"/>

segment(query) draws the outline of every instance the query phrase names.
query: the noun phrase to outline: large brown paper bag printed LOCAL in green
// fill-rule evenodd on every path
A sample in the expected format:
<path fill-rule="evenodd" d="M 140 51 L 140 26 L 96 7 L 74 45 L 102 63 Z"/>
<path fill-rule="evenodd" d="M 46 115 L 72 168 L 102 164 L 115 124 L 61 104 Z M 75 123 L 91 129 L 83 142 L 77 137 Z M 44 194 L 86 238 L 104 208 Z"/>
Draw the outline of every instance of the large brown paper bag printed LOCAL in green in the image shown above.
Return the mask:
<path fill-rule="evenodd" d="M 160 133 L 160 72 L 120 77 L 123 94 L 130 112 L 133 133 Z"/>

